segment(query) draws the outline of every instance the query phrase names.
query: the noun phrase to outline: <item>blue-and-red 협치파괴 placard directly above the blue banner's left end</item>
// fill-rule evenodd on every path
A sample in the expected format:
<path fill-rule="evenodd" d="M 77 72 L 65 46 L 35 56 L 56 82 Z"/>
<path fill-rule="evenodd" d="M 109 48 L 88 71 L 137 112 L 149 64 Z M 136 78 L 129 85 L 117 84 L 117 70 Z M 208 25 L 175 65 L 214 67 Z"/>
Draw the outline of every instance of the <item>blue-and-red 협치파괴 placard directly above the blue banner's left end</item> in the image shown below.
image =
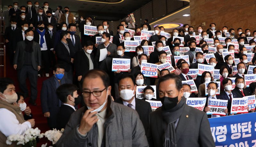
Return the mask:
<path fill-rule="evenodd" d="M 227 106 L 228 100 L 209 98 L 208 107 L 210 107 L 210 111 L 206 112 L 206 114 L 225 116 L 226 113 L 224 111 L 227 109 Z"/>

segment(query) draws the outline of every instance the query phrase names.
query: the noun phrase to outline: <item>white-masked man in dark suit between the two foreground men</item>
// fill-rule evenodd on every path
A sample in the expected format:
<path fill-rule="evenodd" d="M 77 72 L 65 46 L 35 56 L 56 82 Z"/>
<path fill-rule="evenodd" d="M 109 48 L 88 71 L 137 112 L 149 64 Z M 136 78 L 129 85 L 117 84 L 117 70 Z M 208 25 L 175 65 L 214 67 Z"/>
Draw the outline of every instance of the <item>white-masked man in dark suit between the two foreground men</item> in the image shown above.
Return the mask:
<path fill-rule="evenodd" d="M 152 112 L 151 106 L 148 102 L 134 97 L 136 92 L 135 80 L 130 74 L 123 74 L 118 79 L 118 89 L 120 98 L 115 102 L 124 104 L 136 110 L 140 116 L 140 120 L 144 126 L 146 136 L 148 136 L 149 130 L 149 113 Z"/>

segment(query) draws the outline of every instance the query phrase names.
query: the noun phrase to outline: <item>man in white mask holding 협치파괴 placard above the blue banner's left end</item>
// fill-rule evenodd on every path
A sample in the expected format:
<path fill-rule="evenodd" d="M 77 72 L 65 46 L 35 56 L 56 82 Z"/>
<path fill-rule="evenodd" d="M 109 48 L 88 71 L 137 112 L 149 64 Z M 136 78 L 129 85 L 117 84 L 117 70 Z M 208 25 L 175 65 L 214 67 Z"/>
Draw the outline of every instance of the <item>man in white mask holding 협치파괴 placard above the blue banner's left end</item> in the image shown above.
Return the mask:
<path fill-rule="evenodd" d="M 213 99 L 220 99 L 220 96 L 216 95 L 216 92 L 218 91 L 218 83 L 210 82 L 208 84 L 208 88 L 207 89 L 208 89 L 207 90 L 208 95 L 206 96 L 206 104 L 205 104 L 204 112 L 210 111 L 210 107 L 208 107 L 208 100 L 209 99 L 211 99 L 211 98 L 213 98 Z M 225 109 L 224 112 L 228 113 L 228 108 Z M 208 114 L 207 116 L 208 116 L 208 118 L 220 117 L 220 115 L 211 115 L 211 114 Z"/>

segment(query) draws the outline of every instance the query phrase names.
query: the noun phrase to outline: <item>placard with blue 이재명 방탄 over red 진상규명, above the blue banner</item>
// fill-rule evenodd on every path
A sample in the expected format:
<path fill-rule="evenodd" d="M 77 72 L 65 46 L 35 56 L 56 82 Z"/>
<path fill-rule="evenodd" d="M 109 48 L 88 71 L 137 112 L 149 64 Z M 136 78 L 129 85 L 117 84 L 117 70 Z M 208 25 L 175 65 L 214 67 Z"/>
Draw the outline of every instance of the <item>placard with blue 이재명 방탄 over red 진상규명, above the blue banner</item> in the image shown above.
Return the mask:
<path fill-rule="evenodd" d="M 231 114 L 248 113 L 247 105 L 248 105 L 247 97 L 232 98 L 230 113 Z"/>

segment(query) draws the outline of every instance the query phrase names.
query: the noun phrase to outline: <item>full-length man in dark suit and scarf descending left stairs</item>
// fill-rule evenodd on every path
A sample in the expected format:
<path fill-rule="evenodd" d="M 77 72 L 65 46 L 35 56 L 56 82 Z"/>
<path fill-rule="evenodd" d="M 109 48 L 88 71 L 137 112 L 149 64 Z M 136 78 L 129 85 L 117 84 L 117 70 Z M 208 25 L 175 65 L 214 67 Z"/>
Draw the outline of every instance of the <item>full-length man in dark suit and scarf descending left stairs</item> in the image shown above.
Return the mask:
<path fill-rule="evenodd" d="M 18 80 L 20 89 L 24 92 L 25 97 L 28 97 L 28 89 L 26 86 L 27 76 L 30 81 L 30 100 L 29 103 L 36 105 L 37 97 L 37 74 L 40 70 L 41 50 L 40 45 L 33 40 L 34 32 L 30 29 L 25 31 L 26 39 L 17 43 L 13 67 L 18 72 Z"/>

